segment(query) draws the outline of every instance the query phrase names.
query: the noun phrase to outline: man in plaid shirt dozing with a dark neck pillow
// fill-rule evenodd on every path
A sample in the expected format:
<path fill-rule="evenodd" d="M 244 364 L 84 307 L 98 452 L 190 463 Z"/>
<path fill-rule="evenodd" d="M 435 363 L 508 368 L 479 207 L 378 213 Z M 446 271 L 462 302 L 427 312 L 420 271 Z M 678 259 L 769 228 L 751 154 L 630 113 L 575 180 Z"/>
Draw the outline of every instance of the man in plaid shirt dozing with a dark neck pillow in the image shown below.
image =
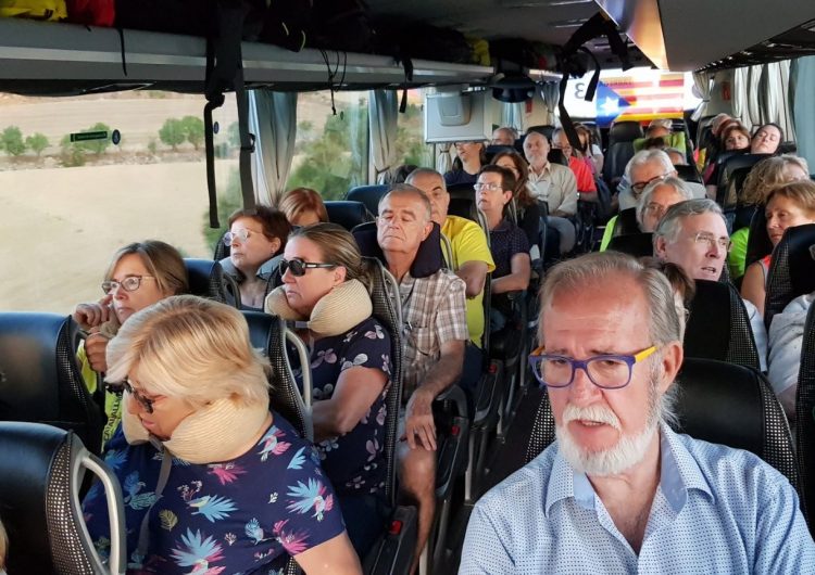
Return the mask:
<path fill-rule="evenodd" d="M 411 572 L 430 535 L 436 512 L 432 403 L 459 379 L 469 338 L 464 281 L 443 268 L 421 276 L 414 267 L 419 245 L 432 230 L 431 212 L 421 190 L 397 184 L 379 201 L 376 222 L 377 243 L 402 299 L 402 399 L 406 406 L 400 413 L 399 476 L 401 489 L 418 504 Z"/>

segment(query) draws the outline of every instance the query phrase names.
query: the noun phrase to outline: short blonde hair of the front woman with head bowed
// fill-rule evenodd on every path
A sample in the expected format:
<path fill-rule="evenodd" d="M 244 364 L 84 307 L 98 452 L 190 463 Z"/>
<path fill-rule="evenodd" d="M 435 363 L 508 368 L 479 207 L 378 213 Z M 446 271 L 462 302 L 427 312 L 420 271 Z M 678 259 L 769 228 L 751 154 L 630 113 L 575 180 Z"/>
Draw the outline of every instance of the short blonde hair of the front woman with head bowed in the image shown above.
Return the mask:
<path fill-rule="evenodd" d="M 148 394 L 197 406 L 267 400 L 268 360 L 252 348 L 237 309 L 179 295 L 134 314 L 108 344 L 105 381 L 135 379 Z"/>

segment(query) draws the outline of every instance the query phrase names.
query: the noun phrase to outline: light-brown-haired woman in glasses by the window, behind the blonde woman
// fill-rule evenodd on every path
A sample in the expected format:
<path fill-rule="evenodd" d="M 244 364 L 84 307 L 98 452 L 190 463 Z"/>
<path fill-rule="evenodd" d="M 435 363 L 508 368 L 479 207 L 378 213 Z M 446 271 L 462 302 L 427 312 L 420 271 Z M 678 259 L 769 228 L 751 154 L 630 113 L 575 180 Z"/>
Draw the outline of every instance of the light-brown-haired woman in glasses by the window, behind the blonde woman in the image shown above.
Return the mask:
<path fill-rule="evenodd" d="M 159 240 L 135 242 L 113 255 L 102 282 L 104 297 L 98 303 L 79 304 L 74 320 L 88 333 L 76 358 L 85 384 L 97 393 L 97 374 L 108 371 L 108 342 L 127 319 L 171 295 L 189 291 L 187 268 L 178 251 Z M 108 422 L 102 442 L 108 442 L 122 419 L 122 396 L 106 392 Z"/>

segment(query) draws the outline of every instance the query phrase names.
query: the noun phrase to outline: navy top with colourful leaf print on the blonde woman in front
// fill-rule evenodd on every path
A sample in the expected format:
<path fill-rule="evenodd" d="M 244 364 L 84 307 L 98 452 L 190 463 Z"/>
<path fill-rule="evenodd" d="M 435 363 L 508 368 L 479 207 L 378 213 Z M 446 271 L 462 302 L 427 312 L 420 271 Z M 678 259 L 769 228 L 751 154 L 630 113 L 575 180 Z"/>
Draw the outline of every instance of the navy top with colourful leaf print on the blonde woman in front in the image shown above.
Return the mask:
<path fill-rule="evenodd" d="M 195 464 L 174 458 L 158 498 L 162 452 L 149 443 L 128 445 L 120 426 L 105 462 L 122 484 L 128 574 L 278 574 L 290 555 L 344 531 L 316 451 L 283 417 L 273 417 L 255 447 L 237 459 Z M 100 484 L 83 507 L 95 545 L 106 557 L 110 527 Z M 146 514 L 149 545 L 139 557 Z"/>

